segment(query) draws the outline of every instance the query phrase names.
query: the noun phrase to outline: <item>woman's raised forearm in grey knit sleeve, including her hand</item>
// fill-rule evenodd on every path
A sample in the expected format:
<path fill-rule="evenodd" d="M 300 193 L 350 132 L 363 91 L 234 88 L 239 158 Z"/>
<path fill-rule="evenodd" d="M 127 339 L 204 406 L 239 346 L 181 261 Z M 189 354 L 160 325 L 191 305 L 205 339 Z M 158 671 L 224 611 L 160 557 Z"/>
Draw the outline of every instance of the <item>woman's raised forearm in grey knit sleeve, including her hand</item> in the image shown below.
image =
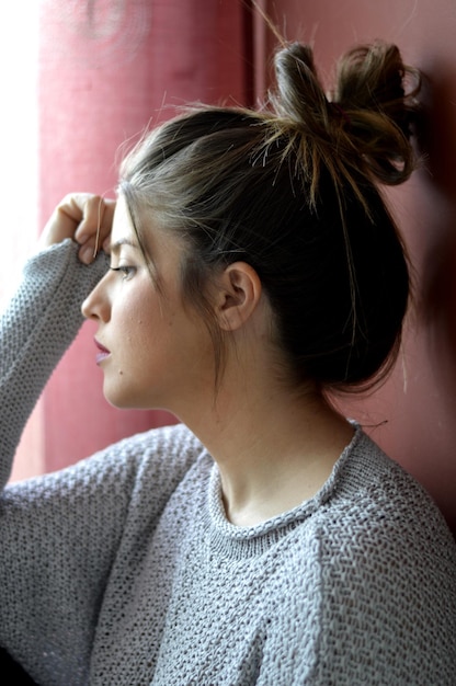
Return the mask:
<path fill-rule="evenodd" d="M 101 220 L 100 202 L 79 194 L 59 205 L 0 318 L 0 487 L 41 391 L 82 323 L 81 302 L 105 272 L 105 256 L 93 261 L 94 242 L 107 248 L 114 204 L 103 201 Z"/>

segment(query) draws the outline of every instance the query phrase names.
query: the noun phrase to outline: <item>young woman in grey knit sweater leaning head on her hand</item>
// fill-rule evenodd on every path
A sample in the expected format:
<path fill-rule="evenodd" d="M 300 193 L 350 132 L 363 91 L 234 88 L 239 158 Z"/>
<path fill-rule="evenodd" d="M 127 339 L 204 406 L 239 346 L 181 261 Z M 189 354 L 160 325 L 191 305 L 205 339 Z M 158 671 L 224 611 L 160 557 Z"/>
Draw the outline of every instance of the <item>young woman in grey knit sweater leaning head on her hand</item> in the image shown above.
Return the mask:
<path fill-rule="evenodd" d="M 181 420 L 5 487 L 0 644 L 38 684 L 454 684 L 453 539 L 329 401 L 400 342 L 377 183 L 413 169 L 415 75 L 383 43 L 331 100 L 308 47 L 276 72 L 146 136 L 116 204 L 67 197 L 1 320 L 3 482 L 82 300 L 107 400 Z"/>

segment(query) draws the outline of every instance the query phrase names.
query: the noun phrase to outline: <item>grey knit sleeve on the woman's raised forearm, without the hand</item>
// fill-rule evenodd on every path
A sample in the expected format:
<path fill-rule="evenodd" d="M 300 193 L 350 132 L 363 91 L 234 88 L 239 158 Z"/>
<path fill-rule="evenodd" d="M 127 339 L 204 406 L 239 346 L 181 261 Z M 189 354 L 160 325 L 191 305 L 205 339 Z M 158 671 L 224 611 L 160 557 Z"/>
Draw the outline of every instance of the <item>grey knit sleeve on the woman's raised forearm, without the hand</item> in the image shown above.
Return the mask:
<path fill-rule="evenodd" d="M 0 318 L 0 488 L 47 379 L 82 323 L 81 302 L 107 267 L 86 266 L 71 240 L 31 259 Z"/>

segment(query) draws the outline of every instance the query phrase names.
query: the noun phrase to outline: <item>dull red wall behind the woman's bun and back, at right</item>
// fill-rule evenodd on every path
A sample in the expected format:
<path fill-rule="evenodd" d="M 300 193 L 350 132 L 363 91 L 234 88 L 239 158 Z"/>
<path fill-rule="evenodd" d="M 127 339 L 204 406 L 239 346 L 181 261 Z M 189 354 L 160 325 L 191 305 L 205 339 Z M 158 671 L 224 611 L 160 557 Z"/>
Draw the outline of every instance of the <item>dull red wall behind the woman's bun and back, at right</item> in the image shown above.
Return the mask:
<path fill-rule="evenodd" d="M 396 43 L 420 67 L 423 169 L 390 193 L 415 272 L 401 358 L 373 397 L 343 402 L 434 495 L 456 531 L 456 4 L 454 0 L 270 1 L 288 39 L 312 42 L 320 73 L 353 43 Z"/>

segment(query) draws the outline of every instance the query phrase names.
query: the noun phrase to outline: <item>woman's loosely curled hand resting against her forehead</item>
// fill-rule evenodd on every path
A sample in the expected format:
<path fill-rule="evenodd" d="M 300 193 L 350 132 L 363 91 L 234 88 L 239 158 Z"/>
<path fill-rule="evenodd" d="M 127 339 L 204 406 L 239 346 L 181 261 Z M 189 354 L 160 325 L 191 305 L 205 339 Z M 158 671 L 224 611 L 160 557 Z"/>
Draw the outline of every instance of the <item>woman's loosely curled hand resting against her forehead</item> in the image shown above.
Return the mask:
<path fill-rule="evenodd" d="M 96 253 L 110 250 L 115 201 L 91 193 L 72 193 L 57 205 L 43 229 L 39 249 L 71 238 L 79 243 L 79 259 L 90 264 Z"/>

